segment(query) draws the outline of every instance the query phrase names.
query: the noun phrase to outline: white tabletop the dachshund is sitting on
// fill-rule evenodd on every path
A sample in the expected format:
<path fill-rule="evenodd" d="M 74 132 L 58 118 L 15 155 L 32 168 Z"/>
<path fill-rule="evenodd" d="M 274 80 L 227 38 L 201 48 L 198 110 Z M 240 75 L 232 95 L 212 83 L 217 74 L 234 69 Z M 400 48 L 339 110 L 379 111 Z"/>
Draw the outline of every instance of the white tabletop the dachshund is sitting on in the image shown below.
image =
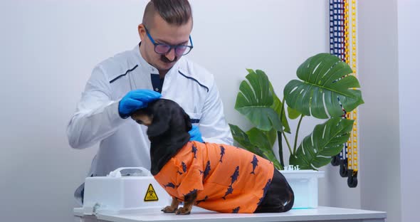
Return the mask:
<path fill-rule="evenodd" d="M 189 215 L 175 215 L 174 213 L 163 213 L 155 209 L 147 213 L 98 213 L 95 216 L 83 216 L 82 208 L 75 208 L 74 215 L 79 218 L 90 217 L 97 221 L 112 222 L 139 222 L 139 221 L 160 221 L 160 222 L 214 222 L 214 221 L 359 221 L 379 222 L 385 221 L 386 212 L 365 211 L 350 208 L 333 208 L 320 206 L 318 208 L 292 209 L 285 213 L 216 213 L 193 207 Z M 80 221 L 83 221 L 80 220 Z"/>

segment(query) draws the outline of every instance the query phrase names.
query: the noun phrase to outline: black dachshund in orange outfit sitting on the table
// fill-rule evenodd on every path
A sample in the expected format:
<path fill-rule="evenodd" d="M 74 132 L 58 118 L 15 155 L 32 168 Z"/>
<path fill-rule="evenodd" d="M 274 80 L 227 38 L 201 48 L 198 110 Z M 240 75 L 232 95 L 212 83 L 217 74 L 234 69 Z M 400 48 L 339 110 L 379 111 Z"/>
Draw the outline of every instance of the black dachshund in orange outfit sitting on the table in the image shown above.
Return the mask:
<path fill-rule="evenodd" d="M 177 102 L 159 99 L 131 117 L 148 127 L 151 172 L 172 196 L 165 213 L 189 214 L 193 205 L 226 213 L 292 208 L 293 190 L 268 160 L 226 144 L 189 142 L 191 120 Z"/>

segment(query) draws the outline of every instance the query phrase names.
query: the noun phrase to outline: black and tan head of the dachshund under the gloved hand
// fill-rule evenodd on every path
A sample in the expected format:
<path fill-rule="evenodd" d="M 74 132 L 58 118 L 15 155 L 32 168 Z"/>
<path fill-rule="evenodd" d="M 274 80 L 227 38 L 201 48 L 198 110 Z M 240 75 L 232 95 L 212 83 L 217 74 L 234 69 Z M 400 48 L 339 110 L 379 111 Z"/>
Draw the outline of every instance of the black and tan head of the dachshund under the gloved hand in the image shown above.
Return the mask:
<path fill-rule="evenodd" d="M 176 137 L 191 130 L 189 115 L 177 102 L 159 99 L 149 102 L 147 107 L 137 110 L 131 115 L 137 123 L 146 125 L 147 136 L 152 141 L 154 137 Z"/>

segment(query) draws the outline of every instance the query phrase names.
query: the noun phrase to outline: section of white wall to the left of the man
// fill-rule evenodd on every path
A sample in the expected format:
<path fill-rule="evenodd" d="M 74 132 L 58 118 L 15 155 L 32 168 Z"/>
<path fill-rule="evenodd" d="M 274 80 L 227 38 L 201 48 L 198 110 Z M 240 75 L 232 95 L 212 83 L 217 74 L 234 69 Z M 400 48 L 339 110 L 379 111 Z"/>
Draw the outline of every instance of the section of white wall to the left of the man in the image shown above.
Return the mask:
<path fill-rule="evenodd" d="M 0 221 L 72 221 L 96 147 L 65 127 L 93 66 L 137 43 L 145 1 L 0 4 Z"/>

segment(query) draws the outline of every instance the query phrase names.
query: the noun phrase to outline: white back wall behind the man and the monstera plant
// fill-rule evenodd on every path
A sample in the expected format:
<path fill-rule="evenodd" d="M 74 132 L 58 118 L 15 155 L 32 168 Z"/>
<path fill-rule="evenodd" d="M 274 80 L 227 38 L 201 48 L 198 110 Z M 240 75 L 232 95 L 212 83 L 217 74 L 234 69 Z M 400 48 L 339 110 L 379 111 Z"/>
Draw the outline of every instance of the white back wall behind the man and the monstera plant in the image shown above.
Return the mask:
<path fill-rule="evenodd" d="M 97 147 L 71 149 L 65 127 L 94 65 L 138 43 L 145 3 L 0 1 L 0 221 L 72 221 L 73 191 Z M 241 127 L 233 106 L 246 68 L 266 71 L 282 97 L 298 65 L 328 51 L 327 1 L 191 4 L 189 58 L 214 73 L 226 119 Z M 313 124 L 304 120 L 300 136 Z M 320 204 L 359 208 L 359 189 L 347 188 L 337 167 L 325 170 Z"/>

